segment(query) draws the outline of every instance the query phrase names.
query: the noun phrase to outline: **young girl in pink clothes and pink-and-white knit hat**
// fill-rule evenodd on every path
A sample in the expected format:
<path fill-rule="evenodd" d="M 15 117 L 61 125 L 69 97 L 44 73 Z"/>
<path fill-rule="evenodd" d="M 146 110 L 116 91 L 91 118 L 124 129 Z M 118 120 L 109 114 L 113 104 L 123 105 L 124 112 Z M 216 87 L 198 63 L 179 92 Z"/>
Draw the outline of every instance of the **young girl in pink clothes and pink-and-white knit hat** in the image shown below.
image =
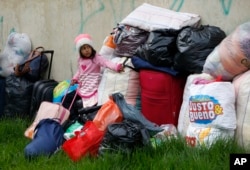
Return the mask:
<path fill-rule="evenodd" d="M 89 34 L 80 34 L 75 38 L 76 50 L 79 52 L 78 69 L 71 84 L 78 83 L 77 95 L 81 97 L 83 107 L 97 104 L 97 89 L 101 79 L 101 68 L 106 67 L 116 72 L 123 71 L 122 64 L 105 59 L 93 48 Z"/>

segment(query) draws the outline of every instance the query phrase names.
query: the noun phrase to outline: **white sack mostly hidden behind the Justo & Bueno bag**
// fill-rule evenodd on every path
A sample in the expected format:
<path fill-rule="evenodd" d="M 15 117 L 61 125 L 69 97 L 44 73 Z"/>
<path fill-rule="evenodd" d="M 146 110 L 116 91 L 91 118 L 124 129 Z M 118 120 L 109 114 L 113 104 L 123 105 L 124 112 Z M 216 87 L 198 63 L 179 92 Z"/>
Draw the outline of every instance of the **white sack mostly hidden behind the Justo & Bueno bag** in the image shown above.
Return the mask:
<path fill-rule="evenodd" d="M 177 130 L 181 136 L 185 136 L 187 132 L 187 128 L 189 125 L 189 97 L 190 97 L 190 85 L 195 78 L 203 78 L 207 80 L 212 80 L 213 77 L 209 74 L 191 74 L 188 76 L 186 85 L 183 91 L 183 101 L 179 113 Z"/>

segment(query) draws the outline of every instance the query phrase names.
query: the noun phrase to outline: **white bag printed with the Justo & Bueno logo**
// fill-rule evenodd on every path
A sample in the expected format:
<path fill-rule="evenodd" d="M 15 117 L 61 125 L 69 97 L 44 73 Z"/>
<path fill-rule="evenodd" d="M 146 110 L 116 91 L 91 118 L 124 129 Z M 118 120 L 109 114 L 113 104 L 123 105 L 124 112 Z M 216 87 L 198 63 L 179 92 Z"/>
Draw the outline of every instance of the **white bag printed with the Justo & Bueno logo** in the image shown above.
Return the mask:
<path fill-rule="evenodd" d="M 231 82 L 191 84 L 190 124 L 199 127 L 236 129 L 235 91 Z"/>

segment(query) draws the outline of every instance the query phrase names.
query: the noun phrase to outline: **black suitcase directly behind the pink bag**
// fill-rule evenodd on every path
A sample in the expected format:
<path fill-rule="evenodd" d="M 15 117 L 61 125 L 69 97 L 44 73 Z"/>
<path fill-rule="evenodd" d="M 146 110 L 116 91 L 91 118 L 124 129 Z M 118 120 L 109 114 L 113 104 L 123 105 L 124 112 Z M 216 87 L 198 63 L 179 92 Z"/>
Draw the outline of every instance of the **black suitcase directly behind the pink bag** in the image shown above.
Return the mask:
<path fill-rule="evenodd" d="M 32 117 L 36 114 L 42 101 L 52 101 L 53 100 L 53 90 L 58 85 L 54 79 L 39 80 L 35 82 L 33 86 L 32 96 L 31 96 L 31 106 L 29 115 Z"/>

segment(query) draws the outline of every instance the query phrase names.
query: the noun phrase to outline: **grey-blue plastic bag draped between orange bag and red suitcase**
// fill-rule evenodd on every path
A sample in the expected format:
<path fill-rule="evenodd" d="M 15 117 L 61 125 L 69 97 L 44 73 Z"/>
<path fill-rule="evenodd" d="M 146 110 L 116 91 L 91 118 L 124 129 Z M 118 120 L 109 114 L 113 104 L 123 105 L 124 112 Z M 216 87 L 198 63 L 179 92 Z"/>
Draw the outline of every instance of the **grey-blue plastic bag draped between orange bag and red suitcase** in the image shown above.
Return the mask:
<path fill-rule="evenodd" d="M 140 122 L 145 126 L 145 128 L 149 131 L 150 134 L 157 133 L 163 130 L 159 125 L 146 119 L 142 115 L 142 113 L 139 110 L 137 110 L 133 105 L 128 104 L 123 94 L 119 92 L 113 93 L 112 97 L 117 106 L 119 107 L 119 109 L 121 110 L 124 119 Z"/>

